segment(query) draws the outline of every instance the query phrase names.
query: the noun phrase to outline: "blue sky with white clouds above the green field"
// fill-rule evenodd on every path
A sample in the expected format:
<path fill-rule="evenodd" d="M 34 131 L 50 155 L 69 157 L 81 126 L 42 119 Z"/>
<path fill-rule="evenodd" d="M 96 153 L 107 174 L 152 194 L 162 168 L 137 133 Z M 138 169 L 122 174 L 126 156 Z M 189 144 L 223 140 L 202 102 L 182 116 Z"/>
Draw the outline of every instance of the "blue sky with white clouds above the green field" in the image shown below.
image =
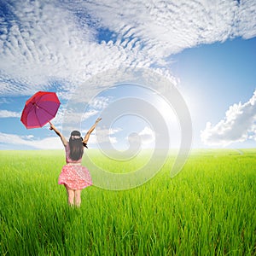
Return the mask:
<path fill-rule="evenodd" d="M 120 67 L 146 68 L 177 86 L 192 119 L 192 147 L 255 148 L 255 1 L 101 2 L 1 1 L 0 149 L 61 148 L 48 125 L 26 130 L 21 124 L 26 100 L 38 90 L 55 91 L 61 108 L 53 122 L 62 131 L 73 93 L 98 92 L 100 85 L 82 84 Z M 172 108 L 132 84 L 102 90 L 86 113 L 72 113 L 79 129 L 87 131 L 128 96 L 154 102 L 177 148 L 182 135 Z M 132 132 L 143 147 L 154 147 L 154 124 L 137 113 L 113 119 L 110 129 L 103 123 L 96 134 L 123 149 Z M 95 134 L 90 147 L 97 147 Z"/>

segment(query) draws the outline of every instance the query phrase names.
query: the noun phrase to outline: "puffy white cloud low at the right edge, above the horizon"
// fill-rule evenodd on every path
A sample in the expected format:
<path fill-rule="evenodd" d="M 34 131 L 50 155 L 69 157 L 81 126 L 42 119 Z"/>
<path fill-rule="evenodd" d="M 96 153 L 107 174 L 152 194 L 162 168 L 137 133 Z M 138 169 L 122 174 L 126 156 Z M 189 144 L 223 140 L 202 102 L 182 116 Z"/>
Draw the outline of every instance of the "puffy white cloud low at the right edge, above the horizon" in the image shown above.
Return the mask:
<path fill-rule="evenodd" d="M 256 139 L 256 90 L 248 102 L 230 106 L 224 119 L 217 125 L 208 122 L 201 131 L 201 141 L 207 145 L 226 146 L 247 139 Z"/>

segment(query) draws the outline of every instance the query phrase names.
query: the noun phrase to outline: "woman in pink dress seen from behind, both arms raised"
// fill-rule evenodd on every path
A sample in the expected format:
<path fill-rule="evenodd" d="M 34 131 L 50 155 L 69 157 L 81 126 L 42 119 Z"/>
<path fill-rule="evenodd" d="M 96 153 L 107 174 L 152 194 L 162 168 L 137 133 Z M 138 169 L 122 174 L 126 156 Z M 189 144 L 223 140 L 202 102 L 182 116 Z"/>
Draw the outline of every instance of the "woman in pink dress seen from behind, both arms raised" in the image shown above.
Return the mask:
<path fill-rule="evenodd" d="M 100 120 L 101 118 L 96 119 L 95 124 L 87 131 L 84 139 L 79 131 L 72 131 L 68 142 L 61 132 L 55 128 L 55 125 L 49 122 L 49 130 L 55 131 L 61 137 L 61 142 L 65 147 L 67 165 L 62 167 L 58 183 L 65 185 L 67 202 L 70 206 L 79 207 L 81 204 L 81 190 L 92 185 L 90 172 L 85 166 L 81 166 L 81 162 L 90 133 L 94 131 Z"/>

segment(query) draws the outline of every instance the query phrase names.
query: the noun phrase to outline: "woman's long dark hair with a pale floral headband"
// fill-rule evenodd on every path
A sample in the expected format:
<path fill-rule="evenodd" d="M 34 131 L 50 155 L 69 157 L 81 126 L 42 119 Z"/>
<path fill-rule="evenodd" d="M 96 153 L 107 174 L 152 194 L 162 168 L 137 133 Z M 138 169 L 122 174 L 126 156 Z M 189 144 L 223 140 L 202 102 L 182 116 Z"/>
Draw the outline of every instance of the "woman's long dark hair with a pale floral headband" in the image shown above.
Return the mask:
<path fill-rule="evenodd" d="M 84 154 L 84 145 L 82 143 L 83 138 L 81 137 L 80 131 L 72 131 L 69 138 L 69 157 L 72 160 L 79 160 Z"/>

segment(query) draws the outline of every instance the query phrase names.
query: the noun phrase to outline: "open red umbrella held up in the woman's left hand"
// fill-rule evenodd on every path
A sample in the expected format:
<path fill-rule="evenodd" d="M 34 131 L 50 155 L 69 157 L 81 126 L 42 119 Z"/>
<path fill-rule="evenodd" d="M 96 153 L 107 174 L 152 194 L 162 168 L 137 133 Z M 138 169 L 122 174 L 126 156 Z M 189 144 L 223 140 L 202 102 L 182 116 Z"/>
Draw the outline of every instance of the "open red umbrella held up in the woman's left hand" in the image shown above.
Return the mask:
<path fill-rule="evenodd" d="M 26 129 L 42 127 L 55 117 L 60 105 L 55 92 L 38 91 L 26 101 L 20 121 Z"/>

